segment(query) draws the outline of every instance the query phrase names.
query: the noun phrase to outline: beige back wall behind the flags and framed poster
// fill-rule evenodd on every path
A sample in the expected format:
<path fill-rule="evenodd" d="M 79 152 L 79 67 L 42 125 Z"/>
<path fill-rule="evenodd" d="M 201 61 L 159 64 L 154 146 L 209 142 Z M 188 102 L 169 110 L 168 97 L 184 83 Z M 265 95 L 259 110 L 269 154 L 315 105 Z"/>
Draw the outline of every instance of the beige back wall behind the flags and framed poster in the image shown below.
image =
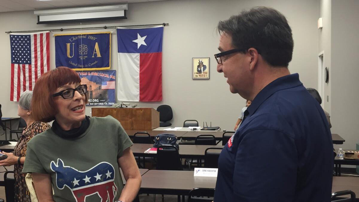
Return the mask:
<path fill-rule="evenodd" d="M 213 57 L 218 52 L 216 25 L 252 6 L 271 6 L 282 12 L 293 30 L 294 54 L 291 73 L 299 73 L 306 87 L 317 87 L 319 0 L 168 0 L 129 4 L 128 19 L 83 23 L 82 27 L 169 23 L 163 38 L 163 101 L 139 103 L 139 107 L 157 108 L 168 104 L 173 109 L 173 126 L 185 119 L 212 121 L 213 126 L 232 129 L 245 104 L 239 95 L 229 92 L 223 74 L 216 72 Z M 37 25 L 32 11 L 0 13 L 0 103 L 3 116 L 17 116 L 17 102 L 9 101 L 10 51 L 5 31 L 79 27 L 79 23 Z M 87 30 L 84 32 L 88 32 Z M 101 29 L 97 31 L 103 31 Z M 79 31 L 73 31 L 73 33 Z M 59 33 L 59 32 L 56 32 Z M 63 32 L 71 33 L 71 32 Z M 116 35 L 112 37 L 112 69 L 117 69 Z M 51 69 L 55 68 L 54 39 L 51 38 Z M 192 80 L 192 58 L 210 57 L 210 80 Z M 44 92 L 47 93 L 47 92 Z M 90 107 L 87 114 L 90 115 Z"/>

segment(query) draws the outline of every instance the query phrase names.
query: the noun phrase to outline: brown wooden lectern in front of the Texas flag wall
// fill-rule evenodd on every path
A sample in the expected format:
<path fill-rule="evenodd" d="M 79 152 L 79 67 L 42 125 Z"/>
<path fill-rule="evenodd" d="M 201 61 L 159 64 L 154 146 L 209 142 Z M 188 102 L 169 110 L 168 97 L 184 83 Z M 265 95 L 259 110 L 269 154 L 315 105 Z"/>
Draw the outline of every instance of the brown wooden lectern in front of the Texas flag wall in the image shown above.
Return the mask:
<path fill-rule="evenodd" d="M 152 130 L 159 127 L 159 112 L 153 108 L 92 108 L 92 116 L 107 115 L 120 121 L 125 130 Z"/>

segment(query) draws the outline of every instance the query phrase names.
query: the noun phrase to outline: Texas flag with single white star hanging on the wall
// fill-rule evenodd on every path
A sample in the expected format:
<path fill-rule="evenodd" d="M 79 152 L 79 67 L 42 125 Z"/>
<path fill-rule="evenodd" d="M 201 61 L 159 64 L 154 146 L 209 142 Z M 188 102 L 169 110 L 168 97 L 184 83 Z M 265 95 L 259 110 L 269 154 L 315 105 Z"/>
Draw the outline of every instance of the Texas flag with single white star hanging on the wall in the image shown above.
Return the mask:
<path fill-rule="evenodd" d="M 162 101 L 163 26 L 117 28 L 117 100 Z"/>

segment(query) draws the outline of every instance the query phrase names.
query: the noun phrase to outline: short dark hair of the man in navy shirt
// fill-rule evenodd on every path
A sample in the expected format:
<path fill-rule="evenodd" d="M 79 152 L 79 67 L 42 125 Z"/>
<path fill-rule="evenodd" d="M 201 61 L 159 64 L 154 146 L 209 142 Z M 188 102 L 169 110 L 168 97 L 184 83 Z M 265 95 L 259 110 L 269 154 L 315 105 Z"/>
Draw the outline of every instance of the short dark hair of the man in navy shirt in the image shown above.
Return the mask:
<path fill-rule="evenodd" d="M 264 60 L 272 66 L 288 67 L 293 54 L 292 29 L 283 14 L 264 6 L 243 10 L 228 20 L 219 21 L 219 33 L 232 36 L 232 45 L 257 49 Z"/>

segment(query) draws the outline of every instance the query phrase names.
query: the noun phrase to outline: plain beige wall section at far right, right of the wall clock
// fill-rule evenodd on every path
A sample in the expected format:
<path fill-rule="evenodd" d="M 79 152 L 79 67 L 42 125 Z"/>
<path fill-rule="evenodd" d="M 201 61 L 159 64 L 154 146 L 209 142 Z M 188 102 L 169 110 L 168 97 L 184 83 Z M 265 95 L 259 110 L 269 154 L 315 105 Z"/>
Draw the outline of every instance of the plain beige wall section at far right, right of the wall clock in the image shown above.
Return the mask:
<path fill-rule="evenodd" d="M 336 148 L 355 149 L 359 143 L 359 1 L 332 0 L 331 8 L 332 133 L 345 139 L 345 143 Z"/>

